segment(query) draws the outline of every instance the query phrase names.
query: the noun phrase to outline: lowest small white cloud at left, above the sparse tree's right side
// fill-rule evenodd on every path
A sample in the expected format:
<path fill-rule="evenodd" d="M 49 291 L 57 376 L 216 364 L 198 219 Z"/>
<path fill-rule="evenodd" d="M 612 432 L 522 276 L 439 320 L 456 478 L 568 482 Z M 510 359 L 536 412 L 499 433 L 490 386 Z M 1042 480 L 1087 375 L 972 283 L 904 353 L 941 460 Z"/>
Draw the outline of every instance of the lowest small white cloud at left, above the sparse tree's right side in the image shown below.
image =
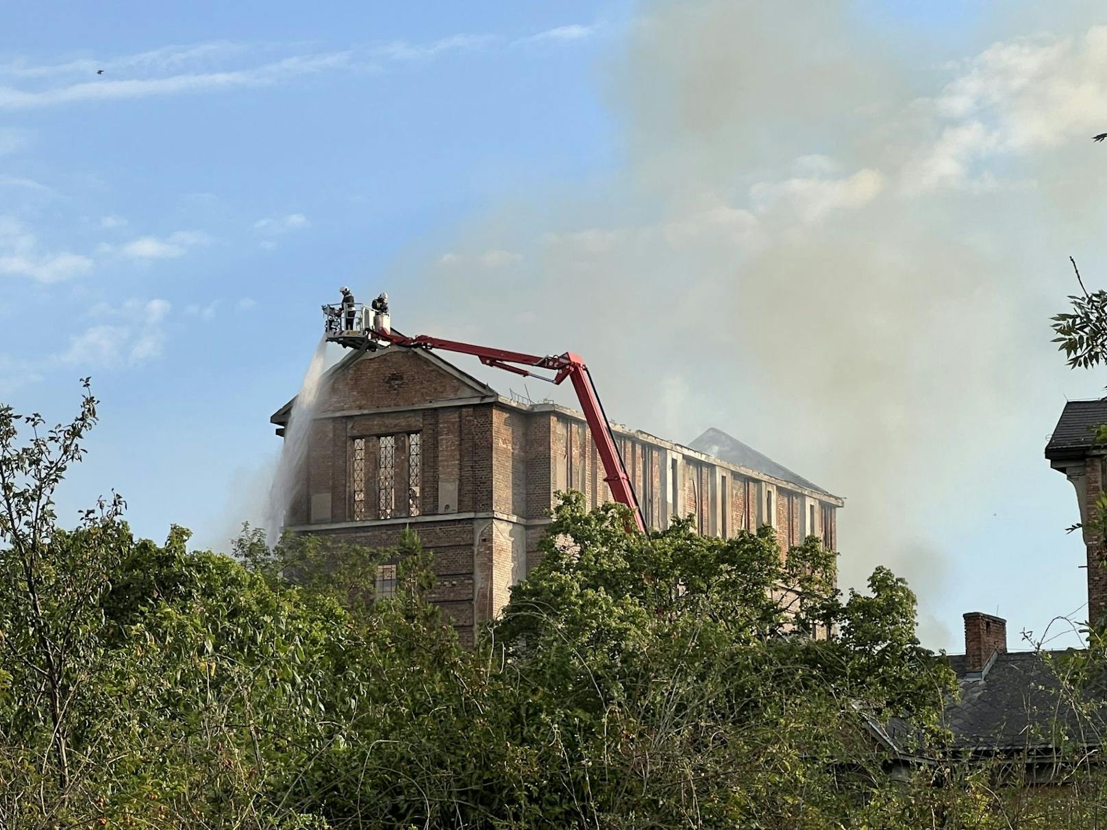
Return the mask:
<path fill-rule="evenodd" d="M 69 347 L 56 361 L 71 366 L 124 369 L 139 366 L 162 356 L 168 317 L 167 300 L 127 300 L 113 307 L 99 303 L 90 309 L 93 318 L 112 322 L 97 323 L 70 338 Z"/>

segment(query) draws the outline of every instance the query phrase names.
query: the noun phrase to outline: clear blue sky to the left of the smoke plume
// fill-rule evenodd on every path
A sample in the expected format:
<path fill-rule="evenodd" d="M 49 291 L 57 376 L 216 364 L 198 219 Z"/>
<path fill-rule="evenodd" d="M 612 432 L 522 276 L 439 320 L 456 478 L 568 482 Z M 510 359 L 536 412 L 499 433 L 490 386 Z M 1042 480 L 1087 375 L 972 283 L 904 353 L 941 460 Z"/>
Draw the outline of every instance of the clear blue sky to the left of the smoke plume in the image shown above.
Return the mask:
<path fill-rule="evenodd" d="M 0 195 L 30 262 L 2 277 L 0 387 L 60 416 L 93 375 L 71 494 L 116 487 L 139 532 L 203 533 L 273 452 L 340 284 L 610 164 L 592 64 L 619 4 L 362 6 L 74 4 L 48 30 L 28 4 L 6 27 Z M 168 310 L 144 323 L 151 301 Z"/>

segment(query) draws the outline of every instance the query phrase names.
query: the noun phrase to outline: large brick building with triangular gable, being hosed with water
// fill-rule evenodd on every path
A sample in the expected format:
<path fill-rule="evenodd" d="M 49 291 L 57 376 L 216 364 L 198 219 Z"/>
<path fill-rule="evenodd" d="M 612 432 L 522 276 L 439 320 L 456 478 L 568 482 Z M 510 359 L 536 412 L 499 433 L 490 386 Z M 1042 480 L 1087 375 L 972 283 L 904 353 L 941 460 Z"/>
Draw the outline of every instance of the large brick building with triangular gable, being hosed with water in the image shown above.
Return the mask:
<path fill-rule="evenodd" d="M 465 642 L 536 564 L 557 491 L 610 500 L 581 413 L 504 397 L 433 352 L 351 352 L 321 398 L 288 527 L 376 548 L 416 530 L 435 553 L 433 599 Z M 292 403 L 271 418 L 278 435 Z M 651 528 L 692 515 L 702 533 L 769 523 L 784 548 L 808 535 L 836 546 L 844 500 L 725 433 L 681 446 L 612 427 Z M 380 569 L 379 591 L 393 573 Z"/>

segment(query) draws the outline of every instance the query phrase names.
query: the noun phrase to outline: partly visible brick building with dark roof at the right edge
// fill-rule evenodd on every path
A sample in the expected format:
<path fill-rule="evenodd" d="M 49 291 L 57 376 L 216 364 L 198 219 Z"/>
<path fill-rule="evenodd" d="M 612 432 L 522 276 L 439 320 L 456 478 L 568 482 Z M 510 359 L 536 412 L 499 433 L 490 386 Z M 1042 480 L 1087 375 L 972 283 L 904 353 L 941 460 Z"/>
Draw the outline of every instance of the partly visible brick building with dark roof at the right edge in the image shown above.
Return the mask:
<path fill-rule="evenodd" d="M 1096 430 L 1107 424 L 1107 398 L 1069 401 L 1045 447 L 1049 466 L 1065 474 L 1076 489 L 1084 544 L 1087 551 L 1088 620 L 1107 614 L 1107 566 L 1103 533 L 1096 529 L 1096 502 L 1107 483 L 1107 444 L 1096 442 Z"/>

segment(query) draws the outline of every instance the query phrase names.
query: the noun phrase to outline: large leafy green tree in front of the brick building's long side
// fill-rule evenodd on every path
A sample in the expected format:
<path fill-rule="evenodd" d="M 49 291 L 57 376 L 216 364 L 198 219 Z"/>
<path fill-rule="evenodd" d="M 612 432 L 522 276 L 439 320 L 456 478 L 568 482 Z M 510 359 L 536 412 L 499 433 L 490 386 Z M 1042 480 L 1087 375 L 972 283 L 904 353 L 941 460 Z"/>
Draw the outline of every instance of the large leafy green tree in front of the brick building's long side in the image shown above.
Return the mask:
<path fill-rule="evenodd" d="M 866 718 L 932 724 L 952 688 L 902 580 L 878 569 L 870 595 L 844 599 L 815 538 L 783 556 L 770 528 L 623 527 L 568 495 L 493 630 L 540 703 L 527 740 L 561 793 L 547 818 L 825 827 L 866 791 L 846 770 L 887 784 Z"/>

